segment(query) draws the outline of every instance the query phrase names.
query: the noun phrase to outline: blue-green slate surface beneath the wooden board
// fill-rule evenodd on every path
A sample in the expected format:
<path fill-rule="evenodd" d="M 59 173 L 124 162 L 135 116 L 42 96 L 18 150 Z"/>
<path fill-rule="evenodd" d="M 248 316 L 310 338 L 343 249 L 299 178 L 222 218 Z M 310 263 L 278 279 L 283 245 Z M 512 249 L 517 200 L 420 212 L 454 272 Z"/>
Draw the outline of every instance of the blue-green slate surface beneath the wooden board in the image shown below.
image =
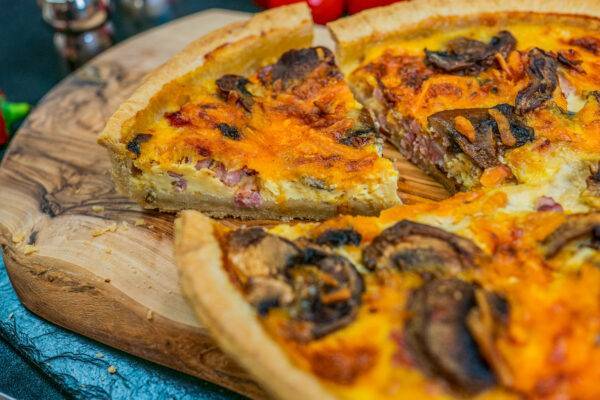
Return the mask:
<path fill-rule="evenodd" d="M 111 349 L 36 317 L 19 302 L 1 260 L 0 336 L 69 397 L 117 400 L 243 399 L 211 383 Z M 111 366 L 116 369 L 114 373 L 109 372 Z M 12 372 L 11 369 L 0 370 L 0 374 L 4 378 L 8 374 L 17 374 L 14 366 L 12 369 Z M 16 378 L 8 376 L 8 380 Z M 39 378 L 34 376 L 22 379 L 30 380 L 28 385 L 40 384 L 37 382 Z M 23 384 L 19 383 L 21 387 Z M 51 387 L 44 392 L 45 395 L 38 394 L 40 397 L 37 398 L 62 397 Z"/>

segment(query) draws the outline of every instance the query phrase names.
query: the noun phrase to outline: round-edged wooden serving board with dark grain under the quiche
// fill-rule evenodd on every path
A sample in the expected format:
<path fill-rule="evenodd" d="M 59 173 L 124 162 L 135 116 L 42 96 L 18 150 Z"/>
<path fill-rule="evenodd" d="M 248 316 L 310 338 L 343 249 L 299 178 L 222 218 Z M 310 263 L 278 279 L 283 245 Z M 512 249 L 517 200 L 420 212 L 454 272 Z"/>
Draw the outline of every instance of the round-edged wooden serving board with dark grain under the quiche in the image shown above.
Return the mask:
<path fill-rule="evenodd" d="M 0 167 L 0 244 L 17 294 L 37 315 L 259 398 L 262 390 L 215 346 L 181 295 L 174 216 L 144 211 L 117 194 L 107 154 L 96 144 L 107 118 L 148 71 L 191 39 L 243 18 L 212 10 L 180 19 L 103 53 L 54 88 Z M 331 45 L 324 29 L 316 41 Z M 393 150 L 386 153 L 401 171 L 406 202 L 446 196 Z"/>

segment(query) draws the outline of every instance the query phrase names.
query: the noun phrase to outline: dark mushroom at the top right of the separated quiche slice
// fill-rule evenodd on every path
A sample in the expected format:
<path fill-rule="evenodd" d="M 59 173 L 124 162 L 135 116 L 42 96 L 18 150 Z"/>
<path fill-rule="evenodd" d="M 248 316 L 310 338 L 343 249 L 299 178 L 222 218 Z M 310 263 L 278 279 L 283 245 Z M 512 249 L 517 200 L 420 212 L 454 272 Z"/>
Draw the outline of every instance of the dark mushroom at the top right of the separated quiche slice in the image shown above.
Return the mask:
<path fill-rule="evenodd" d="M 264 84 L 280 81 L 284 87 L 288 87 L 307 77 L 319 65 L 327 67 L 330 77 L 341 78 L 333 53 L 321 46 L 287 51 L 275 64 L 264 67 L 259 72 L 259 78 Z"/>

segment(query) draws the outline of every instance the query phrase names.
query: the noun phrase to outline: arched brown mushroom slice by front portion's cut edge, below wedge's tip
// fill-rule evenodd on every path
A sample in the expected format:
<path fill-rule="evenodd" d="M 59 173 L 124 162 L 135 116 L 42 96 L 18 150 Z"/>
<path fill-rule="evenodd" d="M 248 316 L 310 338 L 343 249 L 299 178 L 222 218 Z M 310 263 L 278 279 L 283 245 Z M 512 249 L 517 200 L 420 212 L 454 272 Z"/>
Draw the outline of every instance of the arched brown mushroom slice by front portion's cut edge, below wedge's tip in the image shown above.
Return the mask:
<path fill-rule="evenodd" d="M 363 263 L 370 270 L 398 268 L 447 276 L 474 267 L 481 254 L 467 238 L 403 220 L 373 239 L 363 251 Z"/>

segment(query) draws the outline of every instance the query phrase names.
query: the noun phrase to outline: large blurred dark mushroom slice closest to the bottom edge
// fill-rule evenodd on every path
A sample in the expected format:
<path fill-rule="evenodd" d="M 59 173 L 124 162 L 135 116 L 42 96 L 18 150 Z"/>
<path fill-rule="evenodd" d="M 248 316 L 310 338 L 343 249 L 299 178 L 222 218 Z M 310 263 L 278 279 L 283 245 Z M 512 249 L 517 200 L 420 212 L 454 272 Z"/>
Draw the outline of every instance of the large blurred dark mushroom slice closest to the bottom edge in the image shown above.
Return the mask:
<path fill-rule="evenodd" d="M 476 307 L 475 286 L 436 279 L 412 292 L 404 335 L 413 361 L 455 390 L 476 394 L 496 383 L 467 326 Z"/>

